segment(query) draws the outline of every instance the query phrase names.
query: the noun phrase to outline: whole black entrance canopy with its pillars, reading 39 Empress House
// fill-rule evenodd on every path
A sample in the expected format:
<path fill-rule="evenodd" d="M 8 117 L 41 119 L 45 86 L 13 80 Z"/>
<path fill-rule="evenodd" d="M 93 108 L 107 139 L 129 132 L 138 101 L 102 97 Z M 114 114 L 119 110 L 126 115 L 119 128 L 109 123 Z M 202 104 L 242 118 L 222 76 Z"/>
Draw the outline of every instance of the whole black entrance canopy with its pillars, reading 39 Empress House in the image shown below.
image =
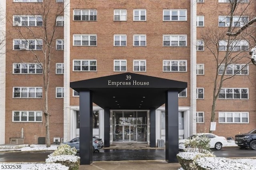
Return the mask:
<path fill-rule="evenodd" d="M 178 162 L 178 93 L 186 82 L 122 73 L 71 82 L 79 92 L 80 164 L 92 163 L 92 103 L 104 109 L 104 147 L 110 146 L 110 110 L 149 110 L 150 147 L 156 147 L 156 109 L 165 104 L 166 161 Z"/>

